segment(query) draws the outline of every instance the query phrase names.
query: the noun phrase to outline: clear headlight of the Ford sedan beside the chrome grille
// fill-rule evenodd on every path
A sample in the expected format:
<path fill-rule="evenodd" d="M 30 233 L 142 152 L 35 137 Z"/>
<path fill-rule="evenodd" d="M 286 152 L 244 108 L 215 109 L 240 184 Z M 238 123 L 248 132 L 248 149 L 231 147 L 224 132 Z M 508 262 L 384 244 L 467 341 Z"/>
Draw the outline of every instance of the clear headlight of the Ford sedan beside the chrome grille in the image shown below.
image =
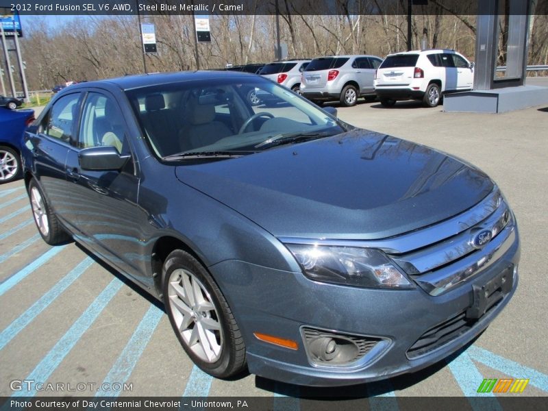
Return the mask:
<path fill-rule="evenodd" d="M 380 250 L 286 244 L 306 277 L 320 282 L 373 288 L 413 288 Z"/>

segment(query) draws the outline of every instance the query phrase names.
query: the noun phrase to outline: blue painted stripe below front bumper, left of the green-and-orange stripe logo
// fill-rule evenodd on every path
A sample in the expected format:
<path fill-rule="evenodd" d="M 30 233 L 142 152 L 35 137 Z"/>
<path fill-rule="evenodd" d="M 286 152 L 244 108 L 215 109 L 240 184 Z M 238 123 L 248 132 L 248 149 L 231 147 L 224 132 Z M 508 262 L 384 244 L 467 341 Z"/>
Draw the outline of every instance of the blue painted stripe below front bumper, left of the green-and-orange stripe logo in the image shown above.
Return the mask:
<path fill-rule="evenodd" d="M 455 377 L 456 382 L 458 382 L 462 393 L 468 398 L 472 409 L 474 411 L 502 411 L 497 399 L 493 398 L 493 401 L 486 403 L 486 401 L 477 397 L 477 388 L 484 377 L 482 373 L 479 372 L 468 353 L 464 351 L 454 358 L 451 358 L 447 360 L 449 370 L 453 373 L 453 377 Z M 495 395 L 493 393 L 483 393 L 482 397 L 495 397 Z"/>

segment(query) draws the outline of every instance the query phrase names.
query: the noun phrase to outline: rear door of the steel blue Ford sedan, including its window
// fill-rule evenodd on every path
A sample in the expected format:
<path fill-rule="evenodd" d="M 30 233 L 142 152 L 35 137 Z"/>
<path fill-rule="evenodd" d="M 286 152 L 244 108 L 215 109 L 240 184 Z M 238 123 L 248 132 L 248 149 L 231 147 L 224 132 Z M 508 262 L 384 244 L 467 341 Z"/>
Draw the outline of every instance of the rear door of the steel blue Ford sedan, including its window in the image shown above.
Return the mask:
<path fill-rule="evenodd" d="M 82 93 L 73 92 L 60 97 L 42 116 L 36 136 L 29 140 L 34 157 L 35 175 L 49 205 L 65 225 L 75 226 L 71 213 L 73 197 L 66 179 L 66 155 L 75 138 Z"/>

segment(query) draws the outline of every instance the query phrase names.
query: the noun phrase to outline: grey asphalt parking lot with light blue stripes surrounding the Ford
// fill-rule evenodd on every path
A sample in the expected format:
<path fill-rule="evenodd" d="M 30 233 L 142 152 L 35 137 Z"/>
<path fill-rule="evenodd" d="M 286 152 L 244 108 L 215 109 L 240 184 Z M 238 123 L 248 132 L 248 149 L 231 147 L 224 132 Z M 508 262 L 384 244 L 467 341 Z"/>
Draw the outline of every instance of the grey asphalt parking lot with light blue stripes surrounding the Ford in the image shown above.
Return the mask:
<path fill-rule="evenodd" d="M 351 388 L 295 387 L 253 375 L 213 379 L 184 354 L 158 303 L 75 243 L 49 247 L 42 242 L 19 180 L 0 186 L 0 396 L 346 395 L 358 397 L 360 408 L 376 410 L 386 406 L 376 395 L 388 401 L 401 396 L 470 396 L 477 395 L 482 379 L 504 377 L 528 378 L 525 393 L 546 396 L 548 105 L 504 114 L 445 113 L 415 102 L 395 108 L 359 103 L 338 110 L 340 118 L 353 125 L 408 138 L 476 164 L 508 198 L 521 229 L 519 288 L 473 345 L 419 373 Z M 82 390 L 40 391 L 34 385 L 19 390 L 17 381 L 23 379 L 70 383 Z M 310 405 L 295 398 L 283 408 L 317 410 L 323 405 L 327 403 Z M 473 401 L 469 405 L 475 409 Z"/>

